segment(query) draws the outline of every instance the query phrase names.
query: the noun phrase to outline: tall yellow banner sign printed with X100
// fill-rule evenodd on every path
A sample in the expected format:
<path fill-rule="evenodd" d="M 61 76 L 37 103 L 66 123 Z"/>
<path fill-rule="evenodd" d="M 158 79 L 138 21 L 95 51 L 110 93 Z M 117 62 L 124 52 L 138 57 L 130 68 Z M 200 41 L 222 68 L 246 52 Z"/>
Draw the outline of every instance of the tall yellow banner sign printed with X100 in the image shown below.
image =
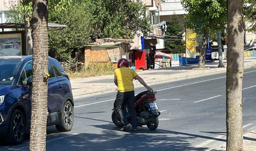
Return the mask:
<path fill-rule="evenodd" d="M 186 57 L 196 58 L 196 33 L 186 29 Z"/>

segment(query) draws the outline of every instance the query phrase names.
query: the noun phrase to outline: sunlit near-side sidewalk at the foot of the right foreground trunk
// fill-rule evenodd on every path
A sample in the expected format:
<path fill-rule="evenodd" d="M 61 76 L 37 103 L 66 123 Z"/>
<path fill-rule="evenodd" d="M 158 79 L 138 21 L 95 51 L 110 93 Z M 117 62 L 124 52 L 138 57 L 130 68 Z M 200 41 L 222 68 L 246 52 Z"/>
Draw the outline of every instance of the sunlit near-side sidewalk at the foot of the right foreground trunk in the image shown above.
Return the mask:
<path fill-rule="evenodd" d="M 226 144 L 211 151 L 226 151 Z M 250 131 L 244 134 L 244 150 L 256 151 L 256 131 Z"/>

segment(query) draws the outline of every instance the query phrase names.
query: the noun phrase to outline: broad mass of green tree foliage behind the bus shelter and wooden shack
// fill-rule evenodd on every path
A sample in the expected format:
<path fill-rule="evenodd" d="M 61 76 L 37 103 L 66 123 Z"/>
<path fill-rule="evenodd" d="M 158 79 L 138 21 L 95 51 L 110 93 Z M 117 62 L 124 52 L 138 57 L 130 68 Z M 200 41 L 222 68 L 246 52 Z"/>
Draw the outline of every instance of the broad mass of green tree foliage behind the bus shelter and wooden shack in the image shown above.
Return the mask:
<path fill-rule="evenodd" d="M 31 1 L 28 0 L 29 6 L 23 5 L 22 0 L 11 5 L 8 20 L 24 22 L 21 15 L 25 15 L 29 21 Z M 142 0 L 49 0 L 49 22 L 68 26 L 62 32 L 49 32 L 49 50 L 60 60 L 67 60 L 72 48 L 97 38 L 133 39 L 137 31 L 150 32 L 146 10 Z"/>

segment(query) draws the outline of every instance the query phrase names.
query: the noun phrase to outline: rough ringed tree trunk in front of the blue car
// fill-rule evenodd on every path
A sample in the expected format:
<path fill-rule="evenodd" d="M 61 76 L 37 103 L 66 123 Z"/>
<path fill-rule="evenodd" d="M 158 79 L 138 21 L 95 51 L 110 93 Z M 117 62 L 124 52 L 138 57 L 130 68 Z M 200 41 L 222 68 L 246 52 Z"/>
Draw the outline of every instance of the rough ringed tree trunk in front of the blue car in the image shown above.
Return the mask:
<path fill-rule="evenodd" d="M 33 39 L 30 151 L 45 151 L 48 73 L 48 1 L 33 0 L 30 20 Z"/>

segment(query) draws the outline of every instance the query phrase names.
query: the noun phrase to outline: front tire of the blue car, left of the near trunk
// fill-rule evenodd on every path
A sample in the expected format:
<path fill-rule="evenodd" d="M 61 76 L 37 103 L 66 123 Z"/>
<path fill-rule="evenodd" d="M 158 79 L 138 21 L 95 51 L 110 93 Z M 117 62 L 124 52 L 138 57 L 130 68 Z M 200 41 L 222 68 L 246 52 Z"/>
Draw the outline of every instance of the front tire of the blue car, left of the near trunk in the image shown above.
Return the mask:
<path fill-rule="evenodd" d="M 22 112 L 18 109 L 14 110 L 10 117 L 6 144 L 21 144 L 25 136 L 25 118 Z"/>

